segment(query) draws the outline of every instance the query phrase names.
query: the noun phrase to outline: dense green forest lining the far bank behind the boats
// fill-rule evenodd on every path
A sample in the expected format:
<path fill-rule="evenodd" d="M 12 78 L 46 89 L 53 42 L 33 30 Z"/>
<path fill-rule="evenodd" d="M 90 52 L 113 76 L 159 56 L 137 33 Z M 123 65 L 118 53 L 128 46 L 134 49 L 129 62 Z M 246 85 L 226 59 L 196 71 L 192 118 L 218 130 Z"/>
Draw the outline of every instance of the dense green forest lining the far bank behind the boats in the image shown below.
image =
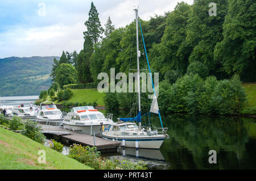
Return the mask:
<path fill-rule="evenodd" d="M 159 73 L 159 104 L 165 111 L 236 113 L 245 101 L 241 81 L 256 82 L 256 3 L 216 0 L 216 14 L 210 15 L 211 2 L 180 2 L 164 15 L 140 19 L 151 70 Z M 64 52 L 65 58 L 54 61 L 53 83 L 61 88 L 97 83 L 98 74 L 110 74 L 110 68 L 116 73 L 136 69 L 135 21 L 115 28 L 109 17 L 104 29 L 92 2 L 84 24 L 84 48 L 71 58 L 74 61 Z M 147 69 L 141 35 L 139 44 L 141 69 Z M 65 78 L 61 72 L 66 72 Z M 123 94 L 106 95 L 107 107 L 129 104 L 123 103 L 128 100 Z M 110 99 L 117 100 L 114 106 L 108 104 Z"/>

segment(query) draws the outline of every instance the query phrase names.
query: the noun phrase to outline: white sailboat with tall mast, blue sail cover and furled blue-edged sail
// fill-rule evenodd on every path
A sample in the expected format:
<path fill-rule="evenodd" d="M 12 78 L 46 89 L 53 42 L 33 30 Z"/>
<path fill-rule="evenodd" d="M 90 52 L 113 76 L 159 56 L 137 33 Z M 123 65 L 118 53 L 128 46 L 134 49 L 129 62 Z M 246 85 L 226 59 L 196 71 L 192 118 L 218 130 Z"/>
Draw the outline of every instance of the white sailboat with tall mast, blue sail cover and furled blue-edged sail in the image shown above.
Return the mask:
<path fill-rule="evenodd" d="M 124 147 L 130 147 L 130 148 L 143 148 L 143 149 L 159 149 L 160 146 L 163 144 L 163 141 L 168 138 L 168 134 L 166 134 L 168 128 L 163 128 L 162 119 L 160 116 L 159 108 L 158 108 L 158 102 L 155 95 L 155 88 L 154 83 L 152 81 L 152 75 L 150 70 L 150 65 L 147 58 L 147 51 L 146 46 L 144 43 L 142 28 L 142 40 L 144 45 L 144 50 L 147 58 L 147 64 L 148 64 L 148 70 L 150 71 L 150 77 L 151 77 L 151 83 L 152 88 L 154 90 L 154 97 L 152 99 L 152 104 L 150 108 L 151 113 L 156 113 L 159 115 L 160 123 L 162 125 L 162 128 L 156 128 L 151 127 L 149 125 L 148 127 L 142 127 L 141 125 L 141 87 L 140 87 L 140 77 L 139 77 L 139 57 L 140 51 L 139 51 L 139 38 L 138 38 L 138 22 L 141 27 L 141 22 L 138 20 L 138 9 L 135 9 L 136 14 L 136 34 L 137 34 L 137 67 L 138 67 L 138 115 L 133 118 L 118 118 L 117 123 L 112 123 L 109 125 L 108 128 L 105 129 L 105 131 L 102 133 L 102 137 L 106 140 L 113 140 L 120 142 L 122 146 Z M 150 113 L 148 112 L 148 113 Z M 133 122 L 130 122 L 133 121 Z M 138 125 L 134 122 L 137 121 L 139 123 Z"/>

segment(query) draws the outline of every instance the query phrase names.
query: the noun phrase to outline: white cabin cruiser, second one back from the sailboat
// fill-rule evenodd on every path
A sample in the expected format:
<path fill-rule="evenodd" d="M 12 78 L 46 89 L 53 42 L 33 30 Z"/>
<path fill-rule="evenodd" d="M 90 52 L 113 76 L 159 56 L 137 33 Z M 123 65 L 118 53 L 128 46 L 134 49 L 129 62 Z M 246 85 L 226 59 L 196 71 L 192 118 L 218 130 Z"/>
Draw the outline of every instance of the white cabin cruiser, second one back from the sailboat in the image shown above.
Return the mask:
<path fill-rule="evenodd" d="M 63 123 L 64 119 L 63 113 L 53 102 L 43 102 L 40 104 L 38 109 L 38 115 L 32 120 L 37 121 L 38 123 L 46 123 L 47 125 L 59 127 Z"/>

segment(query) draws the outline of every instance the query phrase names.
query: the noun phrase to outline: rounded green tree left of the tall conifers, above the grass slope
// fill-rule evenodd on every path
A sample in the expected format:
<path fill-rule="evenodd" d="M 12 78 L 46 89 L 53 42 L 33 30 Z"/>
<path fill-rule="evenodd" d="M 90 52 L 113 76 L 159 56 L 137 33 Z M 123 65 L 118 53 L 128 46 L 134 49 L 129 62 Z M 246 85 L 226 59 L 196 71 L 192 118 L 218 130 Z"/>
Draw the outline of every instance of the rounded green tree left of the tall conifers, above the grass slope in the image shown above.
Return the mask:
<path fill-rule="evenodd" d="M 60 64 L 55 72 L 55 81 L 59 83 L 61 88 L 64 85 L 77 82 L 77 71 L 71 64 Z"/>

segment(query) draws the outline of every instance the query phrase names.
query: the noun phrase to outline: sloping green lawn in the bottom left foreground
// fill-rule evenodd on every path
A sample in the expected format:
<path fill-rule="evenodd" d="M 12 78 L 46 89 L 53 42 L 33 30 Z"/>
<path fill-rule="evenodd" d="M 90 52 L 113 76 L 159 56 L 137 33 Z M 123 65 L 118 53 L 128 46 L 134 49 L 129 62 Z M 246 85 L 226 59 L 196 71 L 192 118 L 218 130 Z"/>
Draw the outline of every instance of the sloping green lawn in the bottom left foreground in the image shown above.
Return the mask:
<path fill-rule="evenodd" d="M 46 151 L 46 164 L 38 162 L 39 150 Z M 87 170 L 75 159 L 52 150 L 20 133 L 0 127 L 0 170 Z"/>

